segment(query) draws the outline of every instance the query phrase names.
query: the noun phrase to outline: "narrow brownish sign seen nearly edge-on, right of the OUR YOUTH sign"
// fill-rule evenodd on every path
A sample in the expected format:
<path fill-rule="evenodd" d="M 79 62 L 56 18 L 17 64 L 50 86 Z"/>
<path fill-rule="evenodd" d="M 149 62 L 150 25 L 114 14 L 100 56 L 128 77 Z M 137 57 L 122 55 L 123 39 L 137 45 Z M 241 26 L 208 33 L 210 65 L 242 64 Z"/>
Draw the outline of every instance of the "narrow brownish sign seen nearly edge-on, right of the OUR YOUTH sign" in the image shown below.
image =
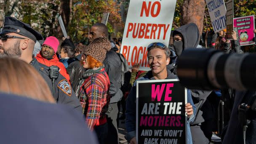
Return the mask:
<path fill-rule="evenodd" d="M 234 7 L 233 7 L 233 0 L 229 0 L 226 3 L 227 8 L 227 40 L 232 39 L 232 31 L 233 31 L 233 16 L 234 16 Z"/>

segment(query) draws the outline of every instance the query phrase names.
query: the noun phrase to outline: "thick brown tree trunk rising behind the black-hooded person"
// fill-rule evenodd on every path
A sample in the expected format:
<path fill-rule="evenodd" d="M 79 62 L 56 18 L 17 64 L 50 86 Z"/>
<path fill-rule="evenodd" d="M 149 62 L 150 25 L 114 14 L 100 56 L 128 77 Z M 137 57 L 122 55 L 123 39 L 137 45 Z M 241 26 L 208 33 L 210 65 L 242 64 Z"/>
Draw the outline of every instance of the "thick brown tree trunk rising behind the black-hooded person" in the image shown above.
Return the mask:
<path fill-rule="evenodd" d="M 184 0 L 181 25 L 193 22 L 197 24 L 200 35 L 202 35 L 205 5 L 205 0 Z"/>

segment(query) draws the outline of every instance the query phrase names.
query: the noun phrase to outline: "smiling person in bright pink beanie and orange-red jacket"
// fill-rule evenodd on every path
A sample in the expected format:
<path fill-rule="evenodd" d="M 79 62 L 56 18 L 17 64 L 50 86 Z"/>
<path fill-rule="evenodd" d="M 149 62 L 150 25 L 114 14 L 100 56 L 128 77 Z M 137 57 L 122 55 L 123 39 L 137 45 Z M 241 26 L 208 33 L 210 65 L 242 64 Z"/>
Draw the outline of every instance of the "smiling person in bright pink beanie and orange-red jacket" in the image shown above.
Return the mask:
<path fill-rule="evenodd" d="M 58 66 L 60 74 L 64 76 L 70 83 L 69 74 L 67 73 L 64 65 L 59 62 L 57 55 L 55 54 L 59 47 L 59 40 L 56 37 L 46 37 L 43 43 L 42 50 L 37 54 L 36 59 L 39 63 L 51 67 L 52 65 Z"/>

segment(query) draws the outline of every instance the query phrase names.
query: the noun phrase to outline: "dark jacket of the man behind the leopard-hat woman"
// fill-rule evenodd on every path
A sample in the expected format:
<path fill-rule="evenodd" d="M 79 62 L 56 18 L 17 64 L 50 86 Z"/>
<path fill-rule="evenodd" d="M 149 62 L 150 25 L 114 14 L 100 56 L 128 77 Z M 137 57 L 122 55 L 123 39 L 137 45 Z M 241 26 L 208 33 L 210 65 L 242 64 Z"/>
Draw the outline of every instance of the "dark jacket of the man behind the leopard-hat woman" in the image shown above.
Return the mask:
<path fill-rule="evenodd" d="M 112 48 L 107 52 L 106 58 L 103 61 L 105 66 L 105 71 L 109 76 L 110 88 L 109 94 L 111 96 L 110 103 L 118 102 L 122 99 L 123 93 L 121 91 L 122 87 L 122 63 L 119 55 L 117 54 L 118 48 L 115 43 L 112 43 Z"/>

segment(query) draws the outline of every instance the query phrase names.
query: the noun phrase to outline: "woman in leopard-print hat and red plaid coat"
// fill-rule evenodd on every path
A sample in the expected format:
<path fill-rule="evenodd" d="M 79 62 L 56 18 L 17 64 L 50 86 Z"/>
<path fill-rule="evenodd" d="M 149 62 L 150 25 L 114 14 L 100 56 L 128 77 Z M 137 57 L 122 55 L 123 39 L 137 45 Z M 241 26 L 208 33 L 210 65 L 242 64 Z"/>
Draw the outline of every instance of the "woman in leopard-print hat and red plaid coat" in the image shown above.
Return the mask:
<path fill-rule="evenodd" d="M 107 37 L 99 37 L 84 49 L 82 64 L 87 70 L 80 78 L 77 91 L 88 128 L 96 132 L 100 144 L 104 144 L 108 131 L 105 113 L 110 99 L 110 82 L 103 61 L 110 48 Z"/>

